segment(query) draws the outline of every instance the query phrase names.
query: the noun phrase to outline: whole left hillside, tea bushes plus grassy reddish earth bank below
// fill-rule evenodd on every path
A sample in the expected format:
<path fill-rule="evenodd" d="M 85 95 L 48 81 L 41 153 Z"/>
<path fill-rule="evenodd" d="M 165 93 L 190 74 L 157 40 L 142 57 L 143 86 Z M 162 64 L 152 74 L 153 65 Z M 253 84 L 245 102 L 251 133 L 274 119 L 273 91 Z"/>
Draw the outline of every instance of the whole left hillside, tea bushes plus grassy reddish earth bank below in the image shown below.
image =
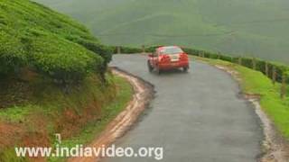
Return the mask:
<path fill-rule="evenodd" d="M 0 0 L 0 161 L 64 161 L 14 151 L 53 147 L 55 133 L 66 147 L 94 139 L 133 94 L 107 69 L 111 53 L 42 4 Z"/>

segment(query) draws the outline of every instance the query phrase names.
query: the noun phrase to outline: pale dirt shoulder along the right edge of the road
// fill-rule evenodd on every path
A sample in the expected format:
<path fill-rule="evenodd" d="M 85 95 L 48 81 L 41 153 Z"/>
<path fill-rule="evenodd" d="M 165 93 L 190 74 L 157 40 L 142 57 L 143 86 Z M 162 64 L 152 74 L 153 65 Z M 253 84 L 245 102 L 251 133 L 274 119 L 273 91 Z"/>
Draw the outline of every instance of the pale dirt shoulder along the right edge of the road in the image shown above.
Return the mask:
<path fill-rule="evenodd" d="M 234 78 L 241 81 L 238 72 L 222 66 L 215 66 L 227 72 Z M 262 127 L 265 135 L 263 141 L 263 155 L 258 159 L 259 162 L 289 162 L 289 144 L 275 129 L 274 123 L 263 112 L 260 105 L 260 96 L 258 94 L 244 94 L 245 98 L 254 105 L 255 112 L 262 122 Z"/>

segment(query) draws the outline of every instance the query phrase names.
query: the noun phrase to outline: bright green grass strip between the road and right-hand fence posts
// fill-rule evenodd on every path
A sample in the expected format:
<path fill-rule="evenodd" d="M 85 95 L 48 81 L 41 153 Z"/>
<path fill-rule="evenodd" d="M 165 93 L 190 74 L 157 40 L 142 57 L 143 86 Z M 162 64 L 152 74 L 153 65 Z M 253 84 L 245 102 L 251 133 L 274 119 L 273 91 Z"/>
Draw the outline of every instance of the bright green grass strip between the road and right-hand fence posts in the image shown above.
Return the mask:
<path fill-rule="evenodd" d="M 241 79 L 239 85 L 245 94 L 259 94 L 260 104 L 268 117 L 275 123 L 275 127 L 289 140 L 289 96 L 284 100 L 280 97 L 281 84 L 272 81 L 259 71 L 239 66 L 238 64 L 211 58 L 192 57 L 210 65 L 228 67 L 238 72 Z"/>

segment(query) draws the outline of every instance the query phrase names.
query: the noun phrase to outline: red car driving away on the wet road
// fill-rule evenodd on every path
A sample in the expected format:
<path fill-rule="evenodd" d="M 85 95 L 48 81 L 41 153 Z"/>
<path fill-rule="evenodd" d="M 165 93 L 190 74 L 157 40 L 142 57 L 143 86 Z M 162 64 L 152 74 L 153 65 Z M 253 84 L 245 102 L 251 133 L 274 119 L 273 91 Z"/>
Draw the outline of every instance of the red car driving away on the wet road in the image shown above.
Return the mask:
<path fill-rule="evenodd" d="M 153 54 L 149 55 L 147 67 L 150 72 L 154 69 L 158 74 L 162 70 L 182 68 L 187 72 L 189 65 L 188 55 L 178 46 L 166 46 L 155 49 Z"/>

